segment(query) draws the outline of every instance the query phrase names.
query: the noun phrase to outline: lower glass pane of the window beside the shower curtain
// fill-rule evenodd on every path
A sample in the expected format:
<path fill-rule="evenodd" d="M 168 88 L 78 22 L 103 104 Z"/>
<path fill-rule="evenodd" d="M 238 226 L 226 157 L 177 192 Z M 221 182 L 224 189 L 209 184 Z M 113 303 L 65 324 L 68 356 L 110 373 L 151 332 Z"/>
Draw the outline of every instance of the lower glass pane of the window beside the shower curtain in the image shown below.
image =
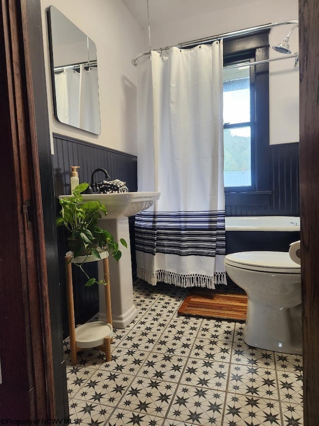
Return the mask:
<path fill-rule="evenodd" d="M 224 186 L 251 186 L 250 126 L 224 129 Z"/>

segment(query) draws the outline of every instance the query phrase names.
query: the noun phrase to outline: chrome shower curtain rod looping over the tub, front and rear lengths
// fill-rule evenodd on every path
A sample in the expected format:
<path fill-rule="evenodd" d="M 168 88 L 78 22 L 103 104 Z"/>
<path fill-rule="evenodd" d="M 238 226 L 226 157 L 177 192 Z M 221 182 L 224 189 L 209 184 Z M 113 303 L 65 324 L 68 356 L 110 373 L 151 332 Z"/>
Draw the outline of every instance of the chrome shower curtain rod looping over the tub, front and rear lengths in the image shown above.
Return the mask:
<path fill-rule="evenodd" d="M 213 35 L 211 37 L 199 38 L 197 40 L 187 41 L 185 43 L 178 43 L 177 46 L 175 46 L 175 45 L 166 46 L 165 48 L 153 49 L 153 50 L 155 50 L 156 52 L 163 52 L 164 50 L 166 50 L 166 52 L 167 52 L 167 49 L 171 49 L 172 47 L 183 48 L 183 47 L 191 46 L 193 44 L 207 43 L 207 42 L 210 42 L 210 41 L 213 42 L 213 41 L 221 40 L 222 38 L 230 38 L 230 37 L 235 37 L 236 35 L 249 34 L 251 32 L 259 31 L 261 29 L 273 28 L 273 27 L 279 26 L 279 25 L 298 24 L 298 23 L 299 23 L 298 19 L 293 19 L 293 20 L 284 21 L 284 22 L 266 23 L 266 24 L 263 24 L 263 25 L 253 26 L 253 27 L 250 27 L 250 28 L 239 29 L 237 31 L 225 32 L 224 34 Z M 137 66 L 137 64 L 139 62 L 139 58 L 141 58 L 142 56 L 145 56 L 145 55 L 149 55 L 150 53 L 151 53 L 151 50 L 149 50 L 148 52 L 145 52 L 145 53 L 141 53 L 140 55 L 136 56 L 135 58 L 132 59 L 132 64 Z M 284 56 L 284 57 L 278 58 L 278 59 L 285 59 L 285 58 L 288 58 L 288 57 L 290 57 L 290 58 L 291 57 L 297 57 L 297 55 Z M 272 60 L 274 60 L 274 59 L 266 59 L 265 61 L 258 61 L 258 62 L 260 62 L 260 63 L 271 62 Z M 255 62 L 255 63 L 251 62 L 250 65 L 254 65 L 254 64 L 257 64 L 257 62 Z M 237 66 L 234 66 L 234 68 L 237 68 Z"/>

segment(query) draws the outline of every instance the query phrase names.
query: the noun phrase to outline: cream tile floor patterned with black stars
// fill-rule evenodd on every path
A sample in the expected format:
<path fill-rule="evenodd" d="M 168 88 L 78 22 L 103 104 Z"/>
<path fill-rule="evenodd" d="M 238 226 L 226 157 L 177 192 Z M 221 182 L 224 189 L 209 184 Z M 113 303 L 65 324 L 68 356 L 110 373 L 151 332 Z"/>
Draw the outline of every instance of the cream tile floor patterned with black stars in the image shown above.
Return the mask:
<path fill-rule="evenodd" d="M 187 290 L 138 280 L 139 314 L 72 366 L 70 419 L 92 426 L 301 426 L 302 357 L 255 349 L 243 324 L 177 316 Z"/>

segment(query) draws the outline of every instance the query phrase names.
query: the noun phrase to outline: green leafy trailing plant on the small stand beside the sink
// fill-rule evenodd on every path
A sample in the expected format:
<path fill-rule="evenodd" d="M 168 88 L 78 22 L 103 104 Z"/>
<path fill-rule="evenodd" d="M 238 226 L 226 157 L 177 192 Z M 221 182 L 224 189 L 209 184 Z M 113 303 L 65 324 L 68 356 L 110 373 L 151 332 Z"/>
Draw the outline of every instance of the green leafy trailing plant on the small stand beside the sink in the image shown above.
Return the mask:
<path fill-rule="evenodd" d="M 90 278 L 83 269 L 83 264 L 86 259 L 93 255 L 100 259 L 100 250 L 107 250 L 115 260 L 119 261 L 122 252 L 119 250 L 119 243 L 113 235 L 106 229 L 99 227 L 98 219 L 102 214 L 107 214 L 106 208 L 99 201 L 83 202 L 83 193 L 89 184 L 83 183 L 75 187 L 73 195 L 68 198 L 59 200 L 61 211 L 56 218 L 57 226 L 64 225 L 69 231 L 68 238 L 69 249 L 72 251 L 72 258 L 76 259 L 78 256 L 84 256 L 84 260 L 74 262 L 87 276 L 88 281 L 86 286 L 89 287 L 95 283 L 106 285 L 104 280 L 97 281 L 95 278 Z M 102 213 L 102 214 L 101 214 Z M 124 238 L 120 242 L 127 247 Z"/>

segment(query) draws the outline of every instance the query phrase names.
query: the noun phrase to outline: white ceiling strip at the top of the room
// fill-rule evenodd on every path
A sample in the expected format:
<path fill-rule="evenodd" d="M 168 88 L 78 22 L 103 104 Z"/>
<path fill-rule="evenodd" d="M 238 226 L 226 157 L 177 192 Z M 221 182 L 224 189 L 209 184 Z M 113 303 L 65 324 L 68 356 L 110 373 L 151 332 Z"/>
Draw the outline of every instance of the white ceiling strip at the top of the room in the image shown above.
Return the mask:
<path fill-rule="evenodd" d="M 256 0 L 149 0 L 150 24 L 189 18 Z M 147 0 L 123 0 L 142 28 L 148 27 Z"/>

